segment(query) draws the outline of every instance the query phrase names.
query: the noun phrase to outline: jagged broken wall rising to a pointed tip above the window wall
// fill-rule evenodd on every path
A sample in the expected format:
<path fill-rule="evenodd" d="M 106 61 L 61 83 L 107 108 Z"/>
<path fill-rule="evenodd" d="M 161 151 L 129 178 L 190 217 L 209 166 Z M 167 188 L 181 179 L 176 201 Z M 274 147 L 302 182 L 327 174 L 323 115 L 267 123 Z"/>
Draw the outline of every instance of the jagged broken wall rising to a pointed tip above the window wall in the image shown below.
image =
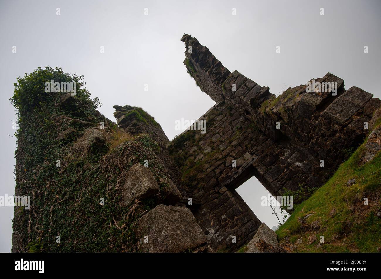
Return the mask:
<path fill-rule="evenodd" d="M 338 162 L 331 158 L 343 159 L 341 150 L 357 147 L 362 142 L 367 134 L 364 122 L 370 121 L 373 112 L 381 106 L 378 98 L 372 98 L 372 94 L 360 88 L 346 91 L 344 80 L 331 73 L 316 82 L 337 82 L 335 96 L 320 91 L 306 93 L 306 86 L 301 85 L 289 88 L 287 96 L 275 99 L 268 87 L 256 84 L 238 71 L 230 73 L 196 38 L 184 35 L 181 40 L 186 46 L 184 64 L 213 100 L 224 100 L 235 107 L 275 141 L 290 140 L 307 148 L 315 157 L 327 159 L 328 167 L 333 169 Z M 275 129 L 278 121 L 279 130 Z"/>

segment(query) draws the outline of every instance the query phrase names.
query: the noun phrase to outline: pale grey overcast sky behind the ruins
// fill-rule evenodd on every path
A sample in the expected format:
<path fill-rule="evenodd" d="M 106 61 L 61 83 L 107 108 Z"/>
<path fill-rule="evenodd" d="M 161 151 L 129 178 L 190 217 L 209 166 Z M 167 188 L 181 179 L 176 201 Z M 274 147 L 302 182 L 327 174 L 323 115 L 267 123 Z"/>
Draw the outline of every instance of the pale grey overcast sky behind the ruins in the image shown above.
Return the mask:
<path fill-rule="evenodd" d="M 114 120 L 113 105 L 139 106 L 172 139 L 178 134 L 175 120 L 197 119 L 214 104 L 182 64 L 184 33 L 195 36 L 230 71 L 269 86 L 274 94 L 330 72 L 345 80 L 346 89 L 357 86 L 380 98 L 380 8 L 379 0 L 2 0 L 0 195 L 14 194 L 15 111 L 8 99 L 16 77 L 38 66 L 84 75 L 107 118 Z M 271 209 L 260 206 L 267 191 L 255 178 L 237 191 L 261 221 L 277 225 Z M 11 249 L 12 214 L 13 208 L 0 207 L 0 252 Z"/>

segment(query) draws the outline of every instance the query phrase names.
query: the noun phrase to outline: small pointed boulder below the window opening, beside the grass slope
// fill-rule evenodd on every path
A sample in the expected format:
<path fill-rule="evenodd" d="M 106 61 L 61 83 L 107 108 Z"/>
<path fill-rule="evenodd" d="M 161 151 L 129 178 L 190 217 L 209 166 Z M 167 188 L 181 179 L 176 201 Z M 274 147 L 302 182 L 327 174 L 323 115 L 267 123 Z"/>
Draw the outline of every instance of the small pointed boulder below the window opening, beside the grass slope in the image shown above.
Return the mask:
<path fill-rule="evenodd" d="M 277 234 L 262 223 L 246 248 L 246 253 L 277 253 L 279 252 Z"/>

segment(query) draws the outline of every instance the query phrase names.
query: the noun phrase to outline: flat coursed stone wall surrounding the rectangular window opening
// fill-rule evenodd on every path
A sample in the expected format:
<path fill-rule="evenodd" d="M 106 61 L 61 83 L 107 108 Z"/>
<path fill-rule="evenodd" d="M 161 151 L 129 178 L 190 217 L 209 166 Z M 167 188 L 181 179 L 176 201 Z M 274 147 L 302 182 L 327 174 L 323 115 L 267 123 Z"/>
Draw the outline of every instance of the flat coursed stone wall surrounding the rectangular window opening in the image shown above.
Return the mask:
<path fill-rule="evenodd" d="M 273 195 L 283 187 L 296 190 L 305 181 L 311 181 L 311 187 L 323 183 L 325 172 L 311 163 L 319 162 L 316 158 L 264 136 L 253 122 L 224 102 L 200 120 L 207 121 L 205 134 L 187 131 L 169 150 L 182 169 L 182 183 L 191 192 L 190 208 L 213 248 L 238 249 L 261 225 L 235 191 L 253 175 Z M 188 134 L 192 136 L 182 141 Z M 234 235 L 237 243 L 231 242 Z"/>

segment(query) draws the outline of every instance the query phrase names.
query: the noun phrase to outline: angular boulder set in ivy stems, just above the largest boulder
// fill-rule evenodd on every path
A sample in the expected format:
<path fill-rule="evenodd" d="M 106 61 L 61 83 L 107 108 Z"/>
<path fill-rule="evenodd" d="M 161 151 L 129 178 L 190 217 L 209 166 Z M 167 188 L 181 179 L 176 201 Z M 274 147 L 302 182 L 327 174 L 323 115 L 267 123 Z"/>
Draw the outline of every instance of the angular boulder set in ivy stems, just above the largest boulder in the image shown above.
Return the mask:
<path fill-rule="evenodd" d="M 135 199 L 146 199 L 159 193 L 159 186 L 149 169 L 139 163 L 127 172 L 123 184 L 123 205 L 128 206 Z"/>

